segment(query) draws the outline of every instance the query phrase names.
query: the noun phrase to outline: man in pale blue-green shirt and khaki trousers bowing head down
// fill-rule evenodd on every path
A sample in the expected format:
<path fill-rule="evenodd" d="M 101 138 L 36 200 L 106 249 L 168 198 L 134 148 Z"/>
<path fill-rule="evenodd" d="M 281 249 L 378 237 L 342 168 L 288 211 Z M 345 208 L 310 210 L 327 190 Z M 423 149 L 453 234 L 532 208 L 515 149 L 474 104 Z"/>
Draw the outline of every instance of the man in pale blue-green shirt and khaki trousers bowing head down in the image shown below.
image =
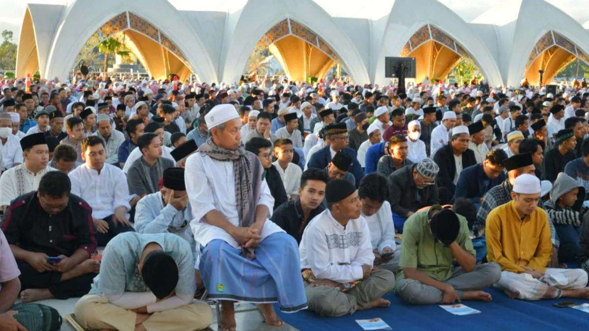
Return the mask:
<path fill-rule="evenodd" d="M 145 331 L 202 330 L 213 322 L 196 282 L 190 244 L 171 234 L 121 233 L 102 252 L 101 272 L 75 305 L 82 327 Z"/>

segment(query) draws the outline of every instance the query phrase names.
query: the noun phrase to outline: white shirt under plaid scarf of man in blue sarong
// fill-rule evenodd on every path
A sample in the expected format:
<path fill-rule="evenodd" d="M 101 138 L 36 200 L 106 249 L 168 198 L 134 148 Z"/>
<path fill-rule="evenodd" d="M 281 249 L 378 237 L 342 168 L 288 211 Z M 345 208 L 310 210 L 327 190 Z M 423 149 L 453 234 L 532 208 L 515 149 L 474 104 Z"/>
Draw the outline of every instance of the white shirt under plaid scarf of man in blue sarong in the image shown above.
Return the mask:
<path fill-rule="evenodd" d="M 221 239 L 235 248 L 240 244 L 220 227 L 207 222 L 204 216 L 211 210 L 217 210 L 234 226 L 239 226 L 237 198 L 233 178 L 233 163 L 213 160 L 201 152 L 194 153 L 186 160 L 186 192 L 190 198 L 194 219 L 190 222 L 194 240 L 203 246 L 209 241 Z M 269 213 L 260 233 L 262 240 L 270 234 L 284 232 L 269 220 L 274 208 L 274 198 L 266 180 L 262 181 L 260 198 L 256 206 L 263 204 Z"/>

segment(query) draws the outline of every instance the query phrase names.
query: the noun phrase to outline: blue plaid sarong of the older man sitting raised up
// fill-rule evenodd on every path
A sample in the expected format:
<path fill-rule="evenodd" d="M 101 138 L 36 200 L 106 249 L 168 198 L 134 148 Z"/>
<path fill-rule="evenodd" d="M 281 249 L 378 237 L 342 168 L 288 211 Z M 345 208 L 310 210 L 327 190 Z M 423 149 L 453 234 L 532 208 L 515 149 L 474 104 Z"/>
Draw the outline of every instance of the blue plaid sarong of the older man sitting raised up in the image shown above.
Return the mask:
<path fill-rule="evenodd" d="M 273 233 L 247 260 L 241 249 L 224 240 L 211 240 L 200 257 L 200 273 L 215 300 L 253 303 L 278 302 L 280 310 L 294 313 L 307 308 L 300 273 L 299 247 L 289 234 Z"/>

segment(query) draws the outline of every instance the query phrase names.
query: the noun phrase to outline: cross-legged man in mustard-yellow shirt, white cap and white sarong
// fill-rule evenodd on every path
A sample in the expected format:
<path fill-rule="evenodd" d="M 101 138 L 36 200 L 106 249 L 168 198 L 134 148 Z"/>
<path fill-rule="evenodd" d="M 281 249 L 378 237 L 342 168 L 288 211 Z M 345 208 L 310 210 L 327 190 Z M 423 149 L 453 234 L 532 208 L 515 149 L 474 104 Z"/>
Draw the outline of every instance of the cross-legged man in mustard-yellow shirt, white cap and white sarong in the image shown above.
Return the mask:
<path fill-rule="evenodd" d="M 515 178 L 511 198 L 489 213 L 485 228 L 487 259 L 502 270 L 495 287 L 522 300 L 589 299 L 585 270 L 546 267 L 552 254 L 551 230 L 546 212 L 538 207 L 538 177 Z"/>

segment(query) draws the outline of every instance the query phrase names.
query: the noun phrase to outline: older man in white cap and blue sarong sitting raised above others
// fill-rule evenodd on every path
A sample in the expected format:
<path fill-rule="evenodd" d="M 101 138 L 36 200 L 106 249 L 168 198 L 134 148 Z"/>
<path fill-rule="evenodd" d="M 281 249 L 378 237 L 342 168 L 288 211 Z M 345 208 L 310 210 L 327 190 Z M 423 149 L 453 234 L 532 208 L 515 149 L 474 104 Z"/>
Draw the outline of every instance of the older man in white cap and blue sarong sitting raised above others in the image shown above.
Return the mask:
<path fill-rule="evenodd" d="M 204 120 L 211 138 L 188 157 L 184 174 L 190 227 L 204 246 L 203 283 L 209 297 L 221 300 L 221 329 L 236 329 L 235 300 L 257 303 L 269 324 L 283 325 L 272 302 L 285 312 L 307 307 L 296 241 L 268 220 L 274 199 L 262 163 L 241 144 L 233 105 L 216 105 Z"/>

